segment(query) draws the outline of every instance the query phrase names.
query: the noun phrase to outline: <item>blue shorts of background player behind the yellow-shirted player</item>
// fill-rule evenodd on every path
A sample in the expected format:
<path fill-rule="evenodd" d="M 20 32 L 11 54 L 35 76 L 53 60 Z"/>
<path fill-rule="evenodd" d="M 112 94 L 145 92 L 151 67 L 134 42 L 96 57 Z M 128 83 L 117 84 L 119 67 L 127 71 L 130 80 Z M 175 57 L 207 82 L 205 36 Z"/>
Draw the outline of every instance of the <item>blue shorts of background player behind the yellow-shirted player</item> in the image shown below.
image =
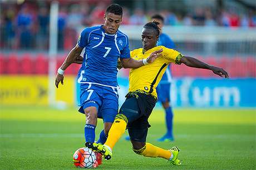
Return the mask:
<path fill-rule="evenodd" d="M 156 93 L 158 101 L 164 103 L 170 102 L 171 83 L 158 84 L 156 87 Z"/>

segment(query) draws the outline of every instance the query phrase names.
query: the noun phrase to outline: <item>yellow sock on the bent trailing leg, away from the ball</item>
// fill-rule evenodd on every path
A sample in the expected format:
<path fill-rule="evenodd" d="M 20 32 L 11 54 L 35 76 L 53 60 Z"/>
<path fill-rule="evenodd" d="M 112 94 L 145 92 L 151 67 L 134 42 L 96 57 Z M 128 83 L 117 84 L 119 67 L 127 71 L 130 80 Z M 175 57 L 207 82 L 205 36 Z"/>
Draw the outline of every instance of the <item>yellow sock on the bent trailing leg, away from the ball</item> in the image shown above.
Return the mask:
<path fill-rule="evenodd" d="M 145 157 L 161 157 L 161 158 L 165 158 L 165 159 L 170 159 L 171 157 L 171 152 L 159 147 L 156 147 L 154 145 L 152 145 L 151 143 L 146 143 L 146 145 L 139 149 L 133 149 L 135 153 L 137 154 L 141 154 Z"/>

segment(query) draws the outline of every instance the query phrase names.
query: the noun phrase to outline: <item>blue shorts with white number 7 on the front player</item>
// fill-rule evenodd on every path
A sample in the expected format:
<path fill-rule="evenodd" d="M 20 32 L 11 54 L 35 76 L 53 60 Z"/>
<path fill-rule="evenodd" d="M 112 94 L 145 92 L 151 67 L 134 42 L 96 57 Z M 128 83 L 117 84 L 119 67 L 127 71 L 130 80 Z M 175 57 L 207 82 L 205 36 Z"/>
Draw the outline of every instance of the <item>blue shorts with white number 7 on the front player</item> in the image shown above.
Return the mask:
<path fill-rule="evenodd" d="M 112 123 L 118 112 L 117 89 L 96 84 L 81 84 L 79 106 L 81 107 L 78 111 L 83 114 L 85 108 L 96 107 L 98 118 L 102 118 L 104 123 Z"/>

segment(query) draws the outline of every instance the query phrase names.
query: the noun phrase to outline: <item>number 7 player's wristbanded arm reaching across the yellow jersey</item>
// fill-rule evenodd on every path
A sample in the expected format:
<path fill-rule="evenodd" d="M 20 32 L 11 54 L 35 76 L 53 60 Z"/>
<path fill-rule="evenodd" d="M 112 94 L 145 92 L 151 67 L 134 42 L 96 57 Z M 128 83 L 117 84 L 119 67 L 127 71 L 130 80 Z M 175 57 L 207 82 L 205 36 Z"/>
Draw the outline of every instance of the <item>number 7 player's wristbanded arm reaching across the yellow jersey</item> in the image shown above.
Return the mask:
<path fill-rule="evenodd" d="M 133 58 L 120 58 L 120 61 L 123 68 L 139 68 L 141 66 L 154 62 L 157 57 L 161 56 L 161 52 L 163 52 L 163 49 L 154 51 L 146 59 L 136 60 Z"/>

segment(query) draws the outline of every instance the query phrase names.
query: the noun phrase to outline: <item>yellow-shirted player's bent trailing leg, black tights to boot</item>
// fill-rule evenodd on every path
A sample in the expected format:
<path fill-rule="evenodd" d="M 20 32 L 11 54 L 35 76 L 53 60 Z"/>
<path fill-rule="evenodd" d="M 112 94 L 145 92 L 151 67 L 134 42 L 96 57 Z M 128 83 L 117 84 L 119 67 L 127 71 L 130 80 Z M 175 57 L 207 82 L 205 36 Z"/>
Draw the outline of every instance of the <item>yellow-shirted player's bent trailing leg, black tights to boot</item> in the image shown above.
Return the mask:
<path fill-rule="evenodd" d="M 165 158 L 170 163 L 179 165 L 178 148 L 173 147 L 167 150 L 154 146 L 151 143 L 146 143 L 147 130 L 150 127 L 147 118 L 144 116 L 129 124 L 128 131 L 131 138 L 132 150 L 141 156 Z M 175 149 L 176 151 L 174 151 Z"/>

